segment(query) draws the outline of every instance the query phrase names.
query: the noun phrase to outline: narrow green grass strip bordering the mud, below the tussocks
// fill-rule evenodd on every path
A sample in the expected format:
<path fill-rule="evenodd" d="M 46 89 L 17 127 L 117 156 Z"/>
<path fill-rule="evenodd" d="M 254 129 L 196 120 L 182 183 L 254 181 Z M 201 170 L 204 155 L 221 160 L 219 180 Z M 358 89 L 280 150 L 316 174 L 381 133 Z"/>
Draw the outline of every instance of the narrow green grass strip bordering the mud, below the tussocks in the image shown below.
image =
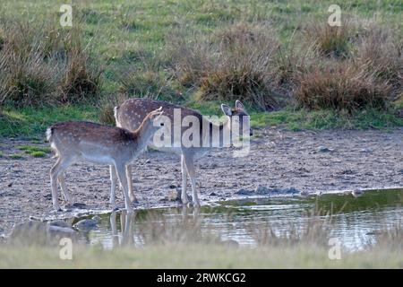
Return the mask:
<path fill-rule="evenodd" d="M 189 104 L 205 115 L 220 115 L 219 105 L 215 103 Z M 5 138 L 45 139 L 45 131 L 58 121 L 90 120 L 99 122 L 99 108 L 91 105 L 73 105 L 56 108 L 3 109 L 0 119 L 0 136 Z M 339 115 L 334 110 L 309 111 L 306 109 L 282 109 L 272 112 L 251 113 L 253 128 L 264 126 L 282 126 L 289 130 L 329 129 L 329 128 L 376 128 L 385 129 L 403 126 L 403 118 L 393 112 L 365 109 L 356 112 L 354 117 Z"/>

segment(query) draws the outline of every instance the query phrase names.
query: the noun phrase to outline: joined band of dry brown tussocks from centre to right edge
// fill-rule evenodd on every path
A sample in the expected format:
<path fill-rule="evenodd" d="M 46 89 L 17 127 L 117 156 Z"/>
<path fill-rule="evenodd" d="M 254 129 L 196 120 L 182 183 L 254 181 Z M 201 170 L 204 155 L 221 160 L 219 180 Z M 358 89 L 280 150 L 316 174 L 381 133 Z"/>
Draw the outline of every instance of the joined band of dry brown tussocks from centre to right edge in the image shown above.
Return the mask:
<path fill-rule="evenodd" d="M 199 100 L 242 99 L 266 110 L 292 100 L 306 109 L 386 109 L 401 93 L 401 39 L 390 27 L 363 26 L 313 22 L 285 48 L 270 25 L 234 24 L 207 39 L 180 32 L 168 46 L 177 79 Z"/>

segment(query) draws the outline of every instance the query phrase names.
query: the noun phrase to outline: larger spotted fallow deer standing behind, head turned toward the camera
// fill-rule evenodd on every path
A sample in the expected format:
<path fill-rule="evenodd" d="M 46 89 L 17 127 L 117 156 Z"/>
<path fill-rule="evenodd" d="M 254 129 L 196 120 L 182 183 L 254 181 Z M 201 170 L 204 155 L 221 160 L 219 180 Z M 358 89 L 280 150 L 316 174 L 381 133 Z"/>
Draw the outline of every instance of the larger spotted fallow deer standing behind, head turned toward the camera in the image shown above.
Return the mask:
<path fill-rule="evenodd" d="M 133 98 L 129 100 L 125 100 L 120 106 L 115 107 L 115 119 L 116 119 L 116 126 L 120 126 L 126 128 L 128 130 L 135 130 L 138 126 L 141 125 L 141 119 L 146 116 L 146 114 L 156 107 L 163 107 L 164 109 L 164 117 L 168 117 L 170 122 L 172 123 L 171 126 L 164 126 L 167 133 L 170 135 L 174 134 L 175 127 L 174 125 L 174 110 L 180 109 L 181 117 L 184 118 L 186 116 L 193 116 L 197 117 L 200 122 L 200 139 L 202 143 L 208 141 L 209 144 L 206 146 L 203 144 L 201 147 L 186 147 L 183 144 L 179 147 L 171 146 L 171 147 L 163 147 L 159 148 L 158 150 L 165 151 L 165 152 L 174 152 L 181 156 L 181 170 L 182 170 L 182 203 L 187 204 L 188 198 L 186 193 L 186 186 L 187 186 L 187 176 L 189 176 L 191 180 L 191 186 L 193 191 L 193 205 L 200 206 L 199 196 L 196 189 L 196 172 L 194 168 L 194 160 L 197 158 L 202 157 L 206 152 L 208 152 L 212 147 L 223 147 L 225 146 L 223 141 L 223 135 L 226 133 L 232 132 L 232 122 L 233 118 L 239 119 L 239 125 L 241 130 L 249 130 L 250 135 L 252 135 L 252 129 L 249 126 L 249 120 L 244 121 L 243 119 L 249 118 L 246 110 L 244 109 L 244 105 L 239 101 L 236 100 L 236 108 L 231 109 L 229 106 L 222 104 L 221 109 L 224 114 L 227 116 L 227 122 L 225 123 L 215 123 L 210 121 L 209 118 L 203 117 L 201 113 L 195 111 L 193 109 L 187 109 L 182 106 L 177 106 L 166 101 L 160 100 L 150 100 L 146 98 Z M 237 117 L 235 117 L 237 116 Z M 181 121 L 182 121 L 181 118 Z M 208 126 L 208 128 L 201 128 L 202 126 Z M 182 132 L 188 127 L 181 127 Z M 211 140 L 212 131 L 219 131 L 219 143 L 213 143 Z M 152 146 L 152 144 L 150 144 Z M 155 146 L 153 146 L 156 148 Z M 126 174 L 128 175 L 129 180 L 129 193 L 133 196 L 133 186 L 132 186 L 132 168 L 128 165 L 126 170 Z"/>

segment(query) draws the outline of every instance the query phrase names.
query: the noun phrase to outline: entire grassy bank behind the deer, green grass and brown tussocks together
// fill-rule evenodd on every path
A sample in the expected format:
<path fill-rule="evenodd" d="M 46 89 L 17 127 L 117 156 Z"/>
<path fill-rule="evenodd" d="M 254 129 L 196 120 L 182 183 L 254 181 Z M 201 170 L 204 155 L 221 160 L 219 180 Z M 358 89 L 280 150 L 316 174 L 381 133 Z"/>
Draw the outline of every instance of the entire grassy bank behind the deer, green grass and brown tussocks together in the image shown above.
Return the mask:
<path fill-rule="evenodd" d="M 73 2 L 5 0 L 0 136 L 40 137 L 66 119 L 104 121 L 106 103 L 150 97 L 219 113 L 244 100 L 253 125 L 403 126 L 397 0 Z M 268 112 L 269 111 L 269 112 Z"/>

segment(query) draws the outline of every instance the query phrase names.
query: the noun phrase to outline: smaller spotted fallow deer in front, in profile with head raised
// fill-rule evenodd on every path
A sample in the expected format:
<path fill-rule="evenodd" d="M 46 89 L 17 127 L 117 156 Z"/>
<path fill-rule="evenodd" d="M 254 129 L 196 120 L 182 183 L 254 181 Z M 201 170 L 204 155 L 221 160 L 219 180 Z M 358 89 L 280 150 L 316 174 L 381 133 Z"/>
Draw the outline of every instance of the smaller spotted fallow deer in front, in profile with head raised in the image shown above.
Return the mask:
<path fill-rule="evenodd" d="M 69 204 L 73 204 L 73 196 L 65 186 L 64 170 L 77 161 L 89 161 L 95 164 L 110 165 L 112 184 L 110 204 L 115 207 L 116 179 L 119 178 L 124 189 L 125 208 L 128 212 L 132 212 L 125 166 L 147 147 L 150 138 L 160 128 L 160 126 L 155 126 L 154 122 L 162 113 L 162 107 L 150 110 L 141 124 L 133 131 L 84 121 L 61 122 L 47 128 L 47 141 L 56 152 L 57 157 L 55 166 L 50 170 L 54 208 L 60 210 L 57 201 L 57 180 L 62 187 L 64 198 Z M 130 177 L 131 180 L 132 177 Z M 131 197 L 134 199 L 133 196 Z"/>

